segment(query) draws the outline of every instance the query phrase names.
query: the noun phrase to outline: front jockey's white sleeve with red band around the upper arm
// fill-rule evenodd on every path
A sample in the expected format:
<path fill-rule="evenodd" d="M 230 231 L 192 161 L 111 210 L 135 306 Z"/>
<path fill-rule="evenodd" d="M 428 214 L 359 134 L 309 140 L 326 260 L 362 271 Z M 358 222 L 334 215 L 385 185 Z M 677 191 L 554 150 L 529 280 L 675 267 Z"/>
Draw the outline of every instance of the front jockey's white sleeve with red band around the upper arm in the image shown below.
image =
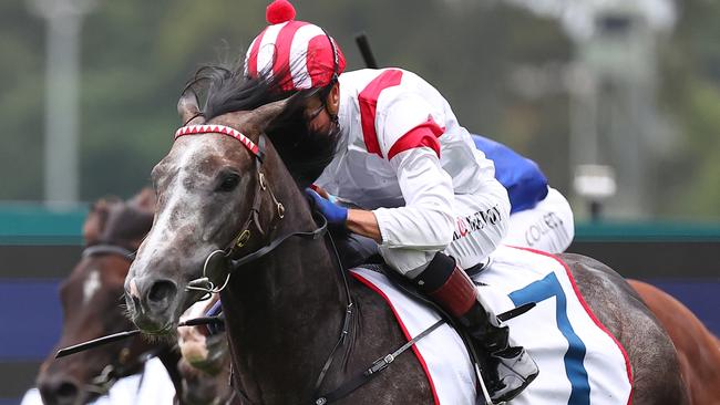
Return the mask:
<path fill-rule="evenodd" d="M 373 210 L 381 248 L 440 251 L 452 241 L 454 189 L 440 163 L 438 113 L 414 89 L 379 101 L 376 131 L 404 206 Z M 441 120 L 442 122 L 442 120 Z"/>

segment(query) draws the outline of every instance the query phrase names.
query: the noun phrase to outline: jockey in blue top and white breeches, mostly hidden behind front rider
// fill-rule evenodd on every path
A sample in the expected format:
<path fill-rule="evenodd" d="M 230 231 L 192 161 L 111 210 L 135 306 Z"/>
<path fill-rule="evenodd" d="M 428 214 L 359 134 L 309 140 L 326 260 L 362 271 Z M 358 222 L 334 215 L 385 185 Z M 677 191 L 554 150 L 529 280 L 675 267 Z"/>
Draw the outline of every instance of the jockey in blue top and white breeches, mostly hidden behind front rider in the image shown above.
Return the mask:
<path fill-rule="evenodd" d="M 510 196 L 510 226 L 504 245 L 562 253 L 575 236 L 567 199 L 547 185 L 537 164 L 510 147 L 472 135 L 475 146 L 495 164 L 495 178 Z"/>

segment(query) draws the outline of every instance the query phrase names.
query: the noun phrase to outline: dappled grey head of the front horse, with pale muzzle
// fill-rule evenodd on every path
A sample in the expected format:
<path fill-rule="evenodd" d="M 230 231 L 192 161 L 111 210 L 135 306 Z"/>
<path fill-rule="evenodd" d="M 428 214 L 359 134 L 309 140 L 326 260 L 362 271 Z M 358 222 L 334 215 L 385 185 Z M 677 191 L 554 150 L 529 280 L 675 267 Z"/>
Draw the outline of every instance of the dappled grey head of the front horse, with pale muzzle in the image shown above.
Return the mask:
<path fill-rule="evenodd" d="M 271 230 L 272 218 L 282 216 L 268 185 L 272 166 L 264 162 L 275 153 L 261 135 L 285 105 L 277 101 L 204 122 L 194 93 L 181 98 L 187 125 L 153 168 L 155 221 L 125 284 L 130 314 L 144 332 L 174 333 L 179 315 L 199 297 L 186 289 L 191 280 L 206 270 L 217 277 L 213 270 L 233 247 L 247 241 L 249 249 Z"/>

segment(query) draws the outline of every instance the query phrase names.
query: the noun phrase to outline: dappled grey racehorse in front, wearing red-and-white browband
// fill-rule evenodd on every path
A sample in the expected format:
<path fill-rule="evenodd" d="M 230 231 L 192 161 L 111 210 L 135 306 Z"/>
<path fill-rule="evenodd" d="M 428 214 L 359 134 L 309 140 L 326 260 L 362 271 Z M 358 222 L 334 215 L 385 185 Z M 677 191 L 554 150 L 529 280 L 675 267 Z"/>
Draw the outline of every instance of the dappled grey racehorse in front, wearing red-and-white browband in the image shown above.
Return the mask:
<path fill-rule="evenodd" d="M 251 404 L 310 403 L 405 339 L 382 299 L 350 280 L 350 332 L 319 378 L 343 329 L 344 280 L 326 240 L 282 239 L 318 225 L 304 185 L 278 154 L 288 145 L 304 146 L 302 128 L 272 134 L 267 127 L 297 117 L 301 108 L 298 98 L 267 104 L 271 89 L 238 76 L 212 83 L 205 108 L 207 124 L 236 132 L 205 127 L 204 135 L 178 137 L 153 169 L 156 219 L 127 276 L 126 301 L 145 332 L 173 333 L 181 313 L 202 294 L 187 287 L 207 284 L 191 281 L 208 276 L 215 285 L 226 284 L 214 290 L 222 290 L 238 392 Z M 194 96 L 181 98 L 178 108 L 183 123 L 205 123 Z M 288 160 L 288 167 L 295 164 Z M 217 251 L 239 261 L 230 270 Z M 686 404 L 672 343 L 635 291 L 593 259 L 562 258 L 592 310 L 627 350 L 632 403 Z M 418 360 L 402 355 L 340 403 L 431 404 L 433 396 Z"/>

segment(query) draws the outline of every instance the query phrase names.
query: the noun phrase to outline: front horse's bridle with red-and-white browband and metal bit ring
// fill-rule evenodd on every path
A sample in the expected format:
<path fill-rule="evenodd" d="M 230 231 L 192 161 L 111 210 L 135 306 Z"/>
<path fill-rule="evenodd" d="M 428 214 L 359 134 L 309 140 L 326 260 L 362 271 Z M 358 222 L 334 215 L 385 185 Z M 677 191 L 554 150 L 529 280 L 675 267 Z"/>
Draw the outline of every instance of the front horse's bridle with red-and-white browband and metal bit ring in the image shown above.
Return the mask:
<path fill-rule="evenodd" d="M 223 134 L 239 141 L 243 144 L 243 146 L 245 146 L 245 148 L 255 157 L 256 172 L 257 172 L 257 188 L 255 190 L 253 206 L 250 207 L 250 211 L 247 216 L 247 219 L 245 220 L 245 224 L 240 227 L 240 230 L 237 232 L 235 238 L 233 238 L 233 240 L 230 241 L 227 248 L 223 250 L 218 249 L 210 252 L 205 259 L 205 263 L 203 264 L 203 277 L 192 280 L 185 287 L 187 291 L 198 291 L 204 293 L 204 295 L 200 297 L 198 301 L 209 299 L 213 293 L 218 293 L 223 291 L 227 287 L 227 283 L 230 280 L 230 274 L 233 273 L 234 270 L 236 270 L 237 268 L 241 267 L 245 263 L 259 259 L 260 257 L 269 253 L 275 248 L 280 246 L 280 243 L 282 243 L 286 239 L 292 236 L 310 238 L 310 239 L 319 239 L 327 232 L 327 221 L 325 220 L 325 218 L 321 218 L 321 225 L 312 231 L 291 232 L 291 233 L 280 236 L 271 240 L 269 243 L 258 249 L 257 251 L 241 258 L 236 258 L 238 249 L 246 246 L 247 242 L 250 240 L 250 237 L 253 236 L 253 231 L 250 230 L 250 228 L 254 227 L 255 230 L 257 230 L 257 233 L 259 233 L 261 237 L 265 237 L 268 233 L 274 232 L 275 229 L 277 229 L 277 226 L 280 222 L 280 220 L 285 218 L 285 206 L 282 205 L 282 202 L 278 201 L 278 199 L 275 197 L 272 189 L 268 186 L 268 181 L 261 172 L 263 160 L 265 158 L 265 137 L 263 135 L 260 135 L 258 143 L 255 144 L 250 138 L 243 135 L 239 131 L 232 128 L 229 126 L 189 125 L 177 129 L 177 132 L 175 132 L 175 139 L 177 139 L 181 136 L 202 135 L 202 134 Z M 270 198 L 272 199 L 272 204 L 275 205 L 275 215 L 272 217 L 268 231 L 263 230 L 258 218 L 260 214 L 260 205 L 263 202 L 261 196 L 264 191 L 267 191 L 270 195 Z M 207 273 L 208 267 L 210 266 L 215 257 L 222 257 L 227 261 L 228 270 L 227 273 L 225 274 L 225 281 L 219 285 L 216 285 L 209 279 L 209 276 Z"/>

